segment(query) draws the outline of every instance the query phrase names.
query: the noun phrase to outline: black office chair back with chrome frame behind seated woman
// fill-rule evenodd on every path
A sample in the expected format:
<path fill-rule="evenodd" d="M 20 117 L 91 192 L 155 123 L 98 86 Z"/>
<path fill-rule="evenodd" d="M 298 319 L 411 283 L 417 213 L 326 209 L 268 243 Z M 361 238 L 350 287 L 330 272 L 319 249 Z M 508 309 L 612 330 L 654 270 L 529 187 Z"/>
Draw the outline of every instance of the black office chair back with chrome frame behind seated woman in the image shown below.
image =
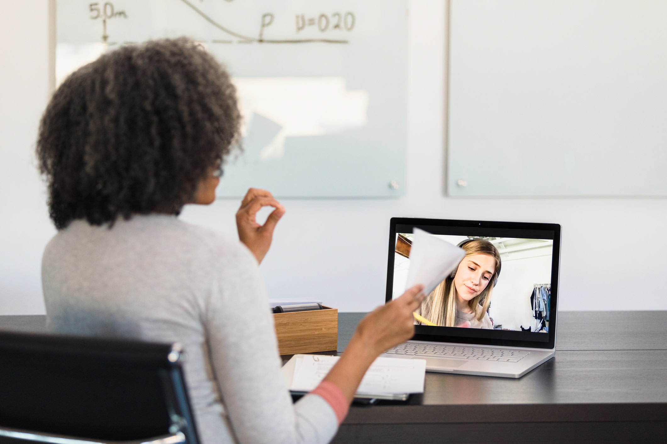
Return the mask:
<path fill-rule="evenodd" d="M 72 439 L 198 444 L 179 345 L 0 333 L 0 440 Z"/>

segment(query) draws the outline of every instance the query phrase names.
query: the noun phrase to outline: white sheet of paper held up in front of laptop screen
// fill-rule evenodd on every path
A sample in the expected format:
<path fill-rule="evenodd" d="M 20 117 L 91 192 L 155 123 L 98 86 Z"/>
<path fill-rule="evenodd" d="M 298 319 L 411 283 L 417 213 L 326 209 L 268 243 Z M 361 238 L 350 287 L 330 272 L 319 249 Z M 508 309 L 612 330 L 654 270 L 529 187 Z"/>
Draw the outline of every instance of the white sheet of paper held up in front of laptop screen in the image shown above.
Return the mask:
<path fill-rule="evenodd" d="M 406 290 L 422 284 L 424 293 L 429 294 L 465 256 L 466 252 L 462 248 L 414 228 Z"/>

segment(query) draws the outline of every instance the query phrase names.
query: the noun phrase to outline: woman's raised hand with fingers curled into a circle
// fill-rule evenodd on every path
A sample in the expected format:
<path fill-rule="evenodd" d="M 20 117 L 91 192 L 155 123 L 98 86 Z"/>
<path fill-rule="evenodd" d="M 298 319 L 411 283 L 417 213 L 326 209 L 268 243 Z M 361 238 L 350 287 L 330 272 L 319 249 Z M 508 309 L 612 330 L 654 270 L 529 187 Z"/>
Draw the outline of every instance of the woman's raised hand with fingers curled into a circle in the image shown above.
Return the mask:
<path fill-rule="evenodd" d="M 275 208 L 269 214 L 263 225 L 257 223 L 257 212 L 263 206 Z M 236 212 L 236 228 L 239 239 L 261 263 L 271 246 L 273 229 L 281 217 L 285 214 L 285 208 L 273 198 L 270 192 L 250 188 L 241 202 L 241 208 Z"/>

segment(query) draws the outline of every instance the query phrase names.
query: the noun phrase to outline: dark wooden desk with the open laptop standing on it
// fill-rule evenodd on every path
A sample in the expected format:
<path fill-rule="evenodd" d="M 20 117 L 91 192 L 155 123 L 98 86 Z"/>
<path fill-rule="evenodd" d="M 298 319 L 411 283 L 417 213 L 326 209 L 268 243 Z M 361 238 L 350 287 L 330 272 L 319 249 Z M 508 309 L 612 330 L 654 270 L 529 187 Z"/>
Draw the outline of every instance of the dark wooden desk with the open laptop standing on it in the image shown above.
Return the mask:
<path fill-rule="evenodd" d="M 342 351 L 364 314 L 339 315 Z M 667 442 L 667 312 L 561 312 L 520 379 L 426 373 L 421 405 L 352 407 L 334 443 Z"/>

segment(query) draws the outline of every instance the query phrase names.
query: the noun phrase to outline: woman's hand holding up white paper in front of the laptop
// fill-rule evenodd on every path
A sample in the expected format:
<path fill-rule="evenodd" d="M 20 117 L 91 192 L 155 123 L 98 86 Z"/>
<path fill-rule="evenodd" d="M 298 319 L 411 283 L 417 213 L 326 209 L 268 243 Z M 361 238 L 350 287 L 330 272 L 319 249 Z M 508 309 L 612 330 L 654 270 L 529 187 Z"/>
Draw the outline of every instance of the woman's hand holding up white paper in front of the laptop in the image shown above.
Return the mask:
<path fill-rule="evenodd" d="M 412 312 L 424 301 L 422 290 L 423 285 L 416 285 L 400 298 L 376 308 L 362 319 L 354 335 L 372 347 L 376 355 L 404 343 L 414 335 Z"/>

